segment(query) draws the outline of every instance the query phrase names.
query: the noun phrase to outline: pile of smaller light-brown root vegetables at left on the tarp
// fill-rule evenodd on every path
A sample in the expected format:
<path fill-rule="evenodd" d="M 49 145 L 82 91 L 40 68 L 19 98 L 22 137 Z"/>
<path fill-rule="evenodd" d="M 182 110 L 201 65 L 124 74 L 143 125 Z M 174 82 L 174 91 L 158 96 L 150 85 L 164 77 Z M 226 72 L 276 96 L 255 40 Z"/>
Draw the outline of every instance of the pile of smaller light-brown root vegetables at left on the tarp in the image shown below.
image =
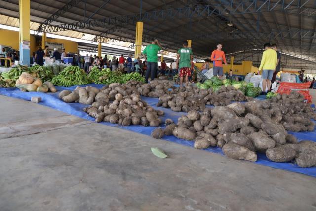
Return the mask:
<path fill-rule="evenodd" d="M 60 92 L 59 98 L 67 103 L 91 105 L 84 108 L 84 111 L 94 117 L 96 122 L 157 127 L 162 123 L 158 116 L 164 112 L 153 109 L 140 99 L 135 87 L 137 84 L 137 81 L 129 81 L 127 84 L 113 83 L 102 89 L 78 86 L 72 92 Z"/>

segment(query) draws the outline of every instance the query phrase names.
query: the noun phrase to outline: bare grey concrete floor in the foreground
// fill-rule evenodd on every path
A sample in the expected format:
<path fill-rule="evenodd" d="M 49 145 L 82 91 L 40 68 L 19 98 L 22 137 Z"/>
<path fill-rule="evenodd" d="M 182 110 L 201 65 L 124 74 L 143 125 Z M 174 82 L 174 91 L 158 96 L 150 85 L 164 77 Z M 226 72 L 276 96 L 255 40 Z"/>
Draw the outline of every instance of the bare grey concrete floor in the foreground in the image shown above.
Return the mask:
<path fill-rule="evenodd" d="M 313 177 L 23 100 L 0 96 L 0 106 L 0 211 L 316 210 Z"/>

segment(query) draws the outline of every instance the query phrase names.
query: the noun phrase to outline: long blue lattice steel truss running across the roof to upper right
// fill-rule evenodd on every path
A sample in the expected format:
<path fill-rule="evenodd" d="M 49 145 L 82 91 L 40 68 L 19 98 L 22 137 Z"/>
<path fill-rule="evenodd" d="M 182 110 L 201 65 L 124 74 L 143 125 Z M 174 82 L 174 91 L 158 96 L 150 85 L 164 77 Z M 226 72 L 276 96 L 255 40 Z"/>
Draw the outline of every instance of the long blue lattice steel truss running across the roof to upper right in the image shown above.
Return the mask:
<path fill-rule="evenodd" d="M 245 14 L 245 13 L 256 13 L 256 12 L 269 12 L 269 11 L 286 11 L 304 8 L 307 2 L 305 0 L 303 4 L 298 4 L 301 0 L 252 0 L 252 1 L 239 1 L 221 4 L 212 4 L 206 6 L 196 7 L 184 7 L 177 9 L 166 9 L 160 11 L 150 11 L 140 14 L 131 14 L 115 17 L 105 17 L 97 20 L 90 20 L 86 23 L 76 22 L 72 24 L 60 24 L 55 26 L 43 26 L 40 31 L 42 32 L 56 32 L 64 30 L 78 30 L 84 27 L 110 27 L 111 25 L 122 25 L 122 24 L 136 24 L 137 21 L 157 21 L 166 19 L 182 19 L 182 18 L 195 18 L 195 17 L 207 17 L 212 15 L 225 16 L 227 14 Z M 234 6 L 235 9 L 232 9 Z M 307 9 L 307 8 L 306 8 Z M 308 8 L 313 9 L 313 8 Z M 316 9 L 315 9 L 316 10 Z M 216 12 L 216 14 L 215 14 Z M 311 15 L 316 17 L 316 13 Z"/>

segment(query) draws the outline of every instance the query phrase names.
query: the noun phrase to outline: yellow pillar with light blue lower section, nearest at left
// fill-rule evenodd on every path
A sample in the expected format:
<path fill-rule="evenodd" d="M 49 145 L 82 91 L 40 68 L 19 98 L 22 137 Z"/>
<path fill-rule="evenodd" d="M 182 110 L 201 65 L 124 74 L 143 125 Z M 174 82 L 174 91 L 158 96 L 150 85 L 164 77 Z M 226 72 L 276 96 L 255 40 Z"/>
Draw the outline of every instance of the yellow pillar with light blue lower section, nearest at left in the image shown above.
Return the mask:
<path fill-rule="evenodd" d="M 23 65 L 30 65 L 30 0 L 20 0 L 19 2 L 20 62 Z"/>

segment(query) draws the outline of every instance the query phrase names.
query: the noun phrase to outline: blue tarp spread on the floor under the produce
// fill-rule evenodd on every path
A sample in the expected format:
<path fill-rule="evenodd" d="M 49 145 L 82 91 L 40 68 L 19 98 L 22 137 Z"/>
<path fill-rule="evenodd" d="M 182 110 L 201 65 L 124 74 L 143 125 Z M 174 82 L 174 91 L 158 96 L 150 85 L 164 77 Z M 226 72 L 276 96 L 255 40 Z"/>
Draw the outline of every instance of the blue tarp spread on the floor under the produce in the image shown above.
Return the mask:
<path fill-rule="evenodd" d="M 89 84 L 90 86 L 94 86 L 97 88 L 101 88 L 102 85 L 100 84 Z M 80 104 L 80 103 L 65 103 L 62 100 L 58 99 L 58 94 L 62 90 L 74 90 L 76 86 L 73 87 L 56 87 L 58 92 L 56 93 L 40 93 L 40 92 L 22 92 L 17 88 L 0 88 L 0 94 L 9 96 L 9 97 L 14 97 L 18 99 L 23 99 L 23 100 L 31 100 L 32 96 L 40 96 L 42 98 L 42 102 L 39 104 L 48 106 L 50 108 L 63 111 L 65 113 L 75 115 L 84 119 L 88 119 L 91 121 L 94 121 L 94 118 L 88 116 L 82 109 L 86 107 L 86 105 Z M 265 96 L 260 96 L 259 99 L 264 99 Z M 158 102 L 158 98 L 150 98 L 150 97 L 142 97 L 144 101 L 146 101 L 150 106 L 152 106 L 155 109 L 160 109 L 165 112 L 165 115 L 162 117 L 162 120 L 164 122 L 165 119 L 171 118 L 175 123 L 177 123 L 178 118 L 181 117 L 182 115 L 186 115 L 184 112 L 174 112 L 171 109 L 166 109 L 162 107 L 156 107 L 156 103 Z M 133 132 L 145 134 L 145 135 L 150 135 L 151 132 L 156 128 L 156 127 L 144 127 L 144 126 L 120 126 L 120 125 L 115 125 L 111 123 L 105 123 L 102 122 L 101 124 L 107 125 L 107 126 L 112 126 L 112 127 L 119 127 L 123 128 L 126 130 L 131 130 Z M 165 126 L 162 126 L 165 127 Z M 316 142 L 316 130 L 313 132 L 289 132 L 290 134 L 293 134 L 295 137 L 297 137 L 299 140 L 312 140 Z M 183 139 L 178 139 L 174 136 L 164 136 L 163 139 L 167 141 L 172 141 L 178 144 L 186 145 L 193 147 L 194 142 L 193 141 L 187 141 Z M 220 153 L 223 155 L 222 150 L 218 147 L 215 148 L 208 148 L 205 149 L 206 151 L 209 152 L 215 152 L 215 153 Z M 310 167 L 310 168 L 300 168 L 294 163 L 276 163 L 270 161 L 265 154 L 258 153 L 258 160 L 255 162 L 256 164 L 264 165 L 264 166 L 270 166 L 274 167 L 276 169 L 283 169 L 283 170 L 288 170 L 292 172 L 297 172 L 297 173 L 303 173 L 309 176 L 314 176 L 316 177 L 316 167 Z"/>

